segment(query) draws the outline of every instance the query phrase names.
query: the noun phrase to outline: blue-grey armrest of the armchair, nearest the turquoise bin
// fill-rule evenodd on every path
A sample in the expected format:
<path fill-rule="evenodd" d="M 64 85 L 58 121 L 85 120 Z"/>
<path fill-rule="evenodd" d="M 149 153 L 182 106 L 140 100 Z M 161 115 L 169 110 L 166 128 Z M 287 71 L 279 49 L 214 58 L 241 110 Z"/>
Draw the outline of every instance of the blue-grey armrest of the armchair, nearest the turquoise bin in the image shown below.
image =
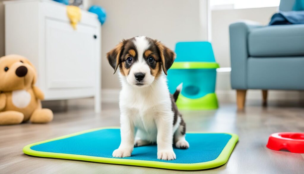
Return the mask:
<path fill-rule="evenodd" d="M 250 29 L 263 27 L 259 23 L 243 21 L 232 23 L 230 33 L 231 87 L 247 89 L 248 34 Z"/>

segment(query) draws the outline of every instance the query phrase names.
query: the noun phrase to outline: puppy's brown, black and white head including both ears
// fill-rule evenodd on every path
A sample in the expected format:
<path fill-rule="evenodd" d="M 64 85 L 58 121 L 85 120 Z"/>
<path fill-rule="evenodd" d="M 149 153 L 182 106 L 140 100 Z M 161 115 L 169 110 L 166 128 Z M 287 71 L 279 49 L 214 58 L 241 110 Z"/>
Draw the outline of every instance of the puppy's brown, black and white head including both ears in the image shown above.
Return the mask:
<path fill-rule="evenodd" d="M 107 53 L 107 59 L 114 73 L 119 68 L 130 85 L 145 87 L 162 72 L 167 75 L 175 53 L 157 40 L 137 36 L 120 42 Z"/>

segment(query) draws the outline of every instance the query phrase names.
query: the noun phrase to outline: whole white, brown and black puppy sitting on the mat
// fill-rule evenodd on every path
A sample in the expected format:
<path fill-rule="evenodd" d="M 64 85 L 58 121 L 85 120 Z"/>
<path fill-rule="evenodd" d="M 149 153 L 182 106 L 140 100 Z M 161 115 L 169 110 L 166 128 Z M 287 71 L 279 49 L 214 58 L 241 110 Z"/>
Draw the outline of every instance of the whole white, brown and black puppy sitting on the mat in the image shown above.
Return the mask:
<path fill-rule="evenodd" d="M 167 70 L 175 53 L 161 42 L 145 36 L 123 40 L 107 53 L 114 69 L 119 69 L 122 90 L 119 96 L 121 111 L 121 143 L 113 157 L 130 157 L 133 147 L 157 143 L 157 158 L 176 159 L 172 143 L 187 149 L 186 124 L 175 101 L 181 91 L 171 95 L 167 86 Z"/>

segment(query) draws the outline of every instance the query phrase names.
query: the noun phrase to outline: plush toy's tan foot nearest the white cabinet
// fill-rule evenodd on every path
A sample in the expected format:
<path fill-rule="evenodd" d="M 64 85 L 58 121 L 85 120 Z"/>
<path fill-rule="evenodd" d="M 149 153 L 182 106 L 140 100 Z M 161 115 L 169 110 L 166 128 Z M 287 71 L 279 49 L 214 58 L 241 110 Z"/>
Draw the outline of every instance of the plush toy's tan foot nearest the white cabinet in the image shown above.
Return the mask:
<path fill-rule="evenodd" d="M 29 120 L 32 123 L 48 123 L 53 120 L 53 112 L 50 109 L 36 109 Z"/>

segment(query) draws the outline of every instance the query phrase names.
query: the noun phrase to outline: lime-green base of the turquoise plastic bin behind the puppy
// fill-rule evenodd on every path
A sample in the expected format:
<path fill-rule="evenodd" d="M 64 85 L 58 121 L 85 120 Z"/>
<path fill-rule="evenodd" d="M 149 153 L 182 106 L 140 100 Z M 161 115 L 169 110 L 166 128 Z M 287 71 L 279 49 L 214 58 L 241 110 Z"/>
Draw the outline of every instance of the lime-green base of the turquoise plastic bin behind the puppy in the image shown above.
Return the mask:
<path fill-rule="evenodd" d="M 176 101 L 178 109 L 182 110 L 205 110 L 205 109 L 217 109 L 219 108 L 216 94 L 206 94 L 201 98 L 187 98 L 182 94 L 179 94 Z"/>

